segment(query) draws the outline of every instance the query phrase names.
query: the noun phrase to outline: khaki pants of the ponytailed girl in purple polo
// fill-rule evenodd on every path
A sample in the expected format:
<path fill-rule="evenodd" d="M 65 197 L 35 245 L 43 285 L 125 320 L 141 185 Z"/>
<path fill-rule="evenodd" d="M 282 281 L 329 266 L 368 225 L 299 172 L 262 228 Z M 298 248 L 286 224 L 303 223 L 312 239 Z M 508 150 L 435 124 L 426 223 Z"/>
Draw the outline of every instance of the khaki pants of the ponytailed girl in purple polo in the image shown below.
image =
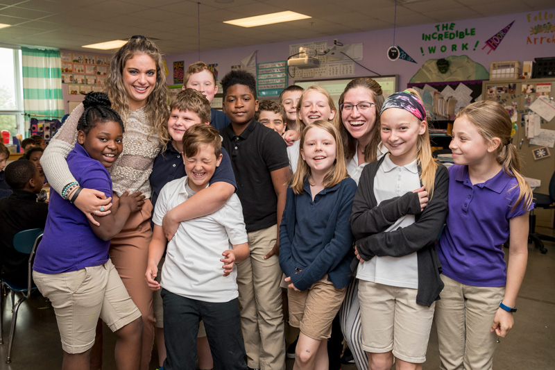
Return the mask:
<path fill-rule="evenodd" d="M 490 333 L 505 287 L 474 287 L 441 275 L 436 301 L 440 369 L 492 369 L 497 335 Z"/>

